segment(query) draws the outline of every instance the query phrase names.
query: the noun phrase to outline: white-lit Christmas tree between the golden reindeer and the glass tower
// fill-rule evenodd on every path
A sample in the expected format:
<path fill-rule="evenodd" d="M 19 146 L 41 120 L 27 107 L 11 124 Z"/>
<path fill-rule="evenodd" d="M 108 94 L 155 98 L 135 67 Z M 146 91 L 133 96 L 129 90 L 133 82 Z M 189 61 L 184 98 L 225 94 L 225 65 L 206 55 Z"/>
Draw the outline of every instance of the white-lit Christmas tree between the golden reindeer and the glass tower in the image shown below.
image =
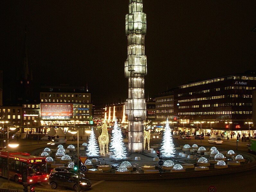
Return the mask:
<path fill-rule="evenodd" d="M 113 152 L 114 152 L 113 157 L 115 159 L 124 159 L 126 157 L 126 148 L 123 143 L 122 131 L 117 124 L 117 119 L 113 126 L 111 140 L 112 141 L 110 143 L 111 145 L 110 149 L 113 149 Z"/>

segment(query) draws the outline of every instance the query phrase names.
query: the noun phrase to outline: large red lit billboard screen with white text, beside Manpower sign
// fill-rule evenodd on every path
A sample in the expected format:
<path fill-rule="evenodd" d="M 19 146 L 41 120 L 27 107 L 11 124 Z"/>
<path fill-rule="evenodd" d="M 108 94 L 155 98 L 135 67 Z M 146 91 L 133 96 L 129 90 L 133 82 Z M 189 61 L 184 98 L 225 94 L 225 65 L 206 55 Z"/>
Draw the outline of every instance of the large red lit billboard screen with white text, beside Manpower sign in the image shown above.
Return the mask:
<path fill-rule="evenodd" d="M 41 104 L 41 118 L 71 119 L 73 118 L 73 104 Z"/>

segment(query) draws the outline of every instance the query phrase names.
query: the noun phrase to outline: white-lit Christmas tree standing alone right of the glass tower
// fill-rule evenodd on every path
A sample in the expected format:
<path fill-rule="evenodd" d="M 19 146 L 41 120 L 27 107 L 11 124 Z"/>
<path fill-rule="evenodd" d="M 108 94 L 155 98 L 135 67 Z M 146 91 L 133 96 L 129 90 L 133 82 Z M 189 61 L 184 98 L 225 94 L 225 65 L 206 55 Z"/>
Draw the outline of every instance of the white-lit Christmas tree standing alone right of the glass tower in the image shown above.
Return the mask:
<path fill-rule="evenodd" d="M 168 119 L 166 120 L 164 128 L 165 130 L 163 132 L 163 143 L 162 143 L 162 148 L 160 150 L 162 150 L 163 156 L 172 157 L 174 156 L 173 154 L 175 154 L 175 148 L 172 141 L 172 134 L 171 134 L 171 129 L 170 129 Z"/>

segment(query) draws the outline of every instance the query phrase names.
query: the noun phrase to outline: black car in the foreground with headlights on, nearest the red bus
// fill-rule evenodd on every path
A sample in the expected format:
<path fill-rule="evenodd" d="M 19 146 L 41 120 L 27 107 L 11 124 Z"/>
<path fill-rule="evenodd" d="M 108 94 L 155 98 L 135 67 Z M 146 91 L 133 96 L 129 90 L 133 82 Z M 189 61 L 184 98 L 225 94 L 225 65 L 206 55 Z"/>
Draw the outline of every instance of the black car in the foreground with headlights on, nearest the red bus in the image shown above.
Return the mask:
<path fill-rule="evenodd" d="M 80 177 L 80 189 L 87 189 L 92 186 L 90 180 Z M 48 177 L 48 184 L 52 189 L 56 189 L 57 186 L 66 188 L 72 188 L 78 191 L 78 175 L 70 172 L 54 172 Z"/>

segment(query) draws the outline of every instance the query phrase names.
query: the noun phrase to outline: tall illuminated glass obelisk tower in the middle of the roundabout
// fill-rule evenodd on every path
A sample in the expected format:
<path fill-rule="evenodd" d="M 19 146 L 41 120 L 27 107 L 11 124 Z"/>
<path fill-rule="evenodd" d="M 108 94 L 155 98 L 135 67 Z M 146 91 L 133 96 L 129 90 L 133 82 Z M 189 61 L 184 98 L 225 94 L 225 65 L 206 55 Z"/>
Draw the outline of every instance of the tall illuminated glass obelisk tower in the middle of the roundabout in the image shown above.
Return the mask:
<path fill-rule="evenodd" d="M 129 14 L 126 15 L 126 36 L 128 37 L 128 58 L 125 61 L 125 77 L 128 78 L 129 152 L 144 151 L 144 120 L 146 120 L 146 100 L 144 98 L 144 76 L 147 74 L 145 55 L 146 14 L 143 0 L 129 0 Z"/>

